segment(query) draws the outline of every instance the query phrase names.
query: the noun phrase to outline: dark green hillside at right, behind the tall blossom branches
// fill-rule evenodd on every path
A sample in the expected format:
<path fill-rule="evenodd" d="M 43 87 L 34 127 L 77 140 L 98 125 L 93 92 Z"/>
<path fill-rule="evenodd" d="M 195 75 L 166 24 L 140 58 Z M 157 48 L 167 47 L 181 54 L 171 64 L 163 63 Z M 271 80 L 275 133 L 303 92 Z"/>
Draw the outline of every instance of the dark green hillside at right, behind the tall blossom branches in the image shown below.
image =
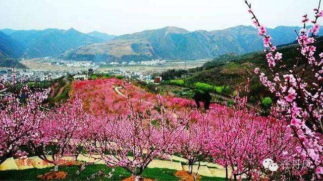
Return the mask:
<path fill-rule="evenodd" d="M 323 37 L 316 38 L 316 56 L 323 52 Z M 287 67 L 291 67 L 297 57 L 298 44 L 290 44 L 280 47 L 279 52 L 283 53 L 283 61 Z M 304 62 L 300 62 L 302 65 Z M 270 71 L 268 63 L 265 59 L 263 51 L 247 53 L 243 55 L 226 54 L 214 58 L 212 61 L 205 63 L 202 67 L 188 69 L 187 71 L 178 70 L 177 72 L 166 71 L 161 74 L 163 79 L 173 79 L 175 76 L 181 77 L 182 74 L 188 75 L 185 82 L 193 84 L 195 82 L 205 82 L 213 85 L 228 85 L 232 90 L 235 90 L 240 83 L 244 83 L 246 78 L 251 78 L 250 95 L 257 100 L 261 100 L 264 96 L 271 95 L 268 90 L 261 85 L 259 78 L 254 76 L 253 70 L 259 67 L 261 72 L 268 73 Z M 283 71 L 283 70 L 282 70 Z M 310 78 L 313 75 L 311 72 L 306 72 L 306 77 Z"/>

